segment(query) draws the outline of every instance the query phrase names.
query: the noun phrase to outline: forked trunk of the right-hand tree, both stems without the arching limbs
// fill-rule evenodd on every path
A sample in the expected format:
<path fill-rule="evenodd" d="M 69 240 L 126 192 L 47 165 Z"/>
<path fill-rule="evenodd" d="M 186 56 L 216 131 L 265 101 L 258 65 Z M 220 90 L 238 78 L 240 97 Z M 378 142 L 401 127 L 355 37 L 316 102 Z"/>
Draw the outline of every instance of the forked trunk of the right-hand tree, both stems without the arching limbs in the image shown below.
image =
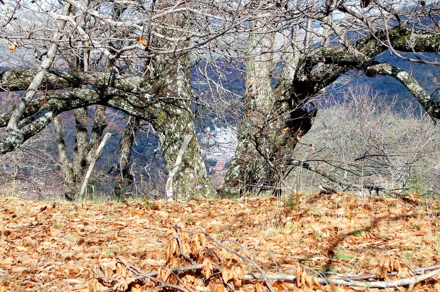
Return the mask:
<path fill-rule="evenodd" d="M 301 80 L 295 88 L 305 85 L 304 74 L 298 70 L 298 60 L 293 54 L 286 56 L 279 82 L 272 90 L 271 73 L 275 64 L 273 54 L 267 52 L 272 51 L 275 35 L 271 32 L 273 27 L 264 21 L 261 16 L 251 23 L 260 28 L 252 29 L 255 33 L 249 35 L 247 42 L 246 92 L 239 143 L 220 186 L 223 196 L 280 192 L 297 139 L 308 131 L 315 114 L 301 108 L 307 94 L 287 90 L 295 78 Z"/>

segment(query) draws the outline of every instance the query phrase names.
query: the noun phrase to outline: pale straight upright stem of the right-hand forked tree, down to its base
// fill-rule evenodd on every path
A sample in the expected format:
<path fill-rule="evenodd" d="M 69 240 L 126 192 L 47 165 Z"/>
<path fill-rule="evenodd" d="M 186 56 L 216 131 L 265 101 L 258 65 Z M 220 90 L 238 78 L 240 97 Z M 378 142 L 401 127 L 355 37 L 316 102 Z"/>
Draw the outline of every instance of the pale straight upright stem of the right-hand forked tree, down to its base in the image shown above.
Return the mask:
<path fill-rule="evenodd" d="M 260 16 L 262 17 L 262 16 Z M 271 85 L 273 47 L 275 33 L 273 27 L 265 25 L 264 18 L 252 21 L 251 28 L 260 27 L 249 34 L 246 51 L 246 91 L 243 117 L 238 129 L 238 145 L 229 169 L 220 186 L 220 194 L 236 195 L 243 190 L 259 192 L 273 186 L 280 178 L 274 177 L 276 169 L 271 169 L 266 159 L 273 160 L 270 147 L 270 129 L 266 115 L 272 110 L 274 94 Z"/>

